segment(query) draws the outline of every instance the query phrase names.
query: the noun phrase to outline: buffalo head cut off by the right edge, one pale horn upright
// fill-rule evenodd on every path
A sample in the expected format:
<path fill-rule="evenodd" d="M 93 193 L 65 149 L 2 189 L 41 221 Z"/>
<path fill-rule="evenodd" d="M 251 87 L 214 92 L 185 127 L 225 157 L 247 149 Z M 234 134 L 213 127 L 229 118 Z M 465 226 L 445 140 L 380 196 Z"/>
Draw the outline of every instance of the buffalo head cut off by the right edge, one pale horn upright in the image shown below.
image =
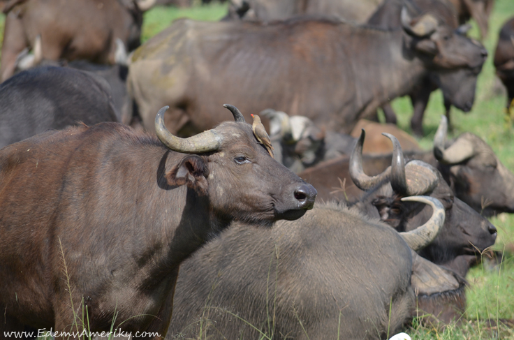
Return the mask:
<path fill-rule="evenodd" d="M 434 156 L 455 194 L 487 216 L 514 212 L 514 174 L 477 135 L 462 133 L 447 143 L 447 129 L 446 117 L 441 117 Z"/>

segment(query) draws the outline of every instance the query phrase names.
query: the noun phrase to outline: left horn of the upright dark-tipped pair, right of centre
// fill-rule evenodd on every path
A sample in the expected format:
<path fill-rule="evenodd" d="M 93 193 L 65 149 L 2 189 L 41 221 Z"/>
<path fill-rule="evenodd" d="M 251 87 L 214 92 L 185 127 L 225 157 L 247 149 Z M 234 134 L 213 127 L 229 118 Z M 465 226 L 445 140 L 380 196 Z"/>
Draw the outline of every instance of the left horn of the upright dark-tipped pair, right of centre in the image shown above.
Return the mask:
<path fill-rule="evenodd" d="M 353 183 L 355 183 L 355 186 L 357 186 L 360 190 L 369 190 L 372 189 L 376 184 L 379 184 L 384 179 L 386 179 L 391 172 L 391 168 L 387 168 L 382 172 L 380 175 L 376 175 L 373 177 L 369 177 L 364 173 L 364 170 L 362 170 L 362 145 L 364 145 L 364 139 L 366 137 L 366 131 L 364 131 L 364 128 L 362 129 L 362 132 L 360 133 L 360 137 L 357 140 L 357 143 L 355 144 L 355 147 L 353 147 L 353 151 L 351 152 L 350 156 L 350 177 L 353 180 Z M 393 158 L 395 158 L 395 152 L 393 151 Z"/>

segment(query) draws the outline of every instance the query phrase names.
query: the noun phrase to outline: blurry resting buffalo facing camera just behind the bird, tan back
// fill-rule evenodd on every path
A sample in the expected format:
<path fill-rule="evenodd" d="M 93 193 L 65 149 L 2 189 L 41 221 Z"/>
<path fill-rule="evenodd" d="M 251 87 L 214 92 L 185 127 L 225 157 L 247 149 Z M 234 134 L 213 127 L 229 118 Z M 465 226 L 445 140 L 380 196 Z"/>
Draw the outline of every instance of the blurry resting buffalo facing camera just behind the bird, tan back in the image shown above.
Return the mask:
<path fill-rule="evenodd" d="M 356 142 L 355 130 L 366 128 L 372 140 L 366 140 L 363 152 L 365 154 L 390 154 L 392 147 L 384 138 L 374 138 L 387 132 L 399 137 L 402 149 L 406 151 L 421 151 L 418 142 L 404 131 L 392 124 L 379 124 L 374 121 L 361 119 L 351 135 L 333 131 L 323 131 L 309 118 L 304 116 L 289 117 L 286 112 L 272 109 L 260 112 L 260 115 L 270 119 L 270 138 L 274 147 L 274 157 L 293 172 L 301 172 L 321 161 L 328 161 L 342 155 L 349 155 Z"/>

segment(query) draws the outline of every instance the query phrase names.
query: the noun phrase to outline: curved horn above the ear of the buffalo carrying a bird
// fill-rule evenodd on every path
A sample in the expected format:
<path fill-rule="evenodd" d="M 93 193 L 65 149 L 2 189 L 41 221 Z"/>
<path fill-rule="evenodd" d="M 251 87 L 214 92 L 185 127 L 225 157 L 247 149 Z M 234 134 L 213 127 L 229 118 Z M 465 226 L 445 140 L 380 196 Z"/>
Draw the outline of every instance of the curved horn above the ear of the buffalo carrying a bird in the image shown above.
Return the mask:
<path fill-rule="evenodd" d="M 170 108 L 165 106 L 157 112 L 155 117 L 155 132 L 159 140 L 169 149 L 184 154 L 202 154 L 204 152 L 216 151 L 221 146 L 222 138 L 214 130 L 207 130 L 189 138 L 178 138 L 172 135 L 164 126 L 164 112 Z"/>

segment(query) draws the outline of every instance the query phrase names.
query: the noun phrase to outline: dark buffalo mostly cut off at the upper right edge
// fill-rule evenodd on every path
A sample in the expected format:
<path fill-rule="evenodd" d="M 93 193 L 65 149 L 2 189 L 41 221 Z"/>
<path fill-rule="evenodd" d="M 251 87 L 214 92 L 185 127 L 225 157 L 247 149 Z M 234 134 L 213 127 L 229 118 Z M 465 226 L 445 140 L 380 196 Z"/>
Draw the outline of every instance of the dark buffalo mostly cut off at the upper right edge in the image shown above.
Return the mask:
<path fill-rule="evenodd" d="M 507 88 L 507 112 L 514 106 L 514 17 L 501 27 L 498 45 L 494 52 L 496 74 Z"/>

